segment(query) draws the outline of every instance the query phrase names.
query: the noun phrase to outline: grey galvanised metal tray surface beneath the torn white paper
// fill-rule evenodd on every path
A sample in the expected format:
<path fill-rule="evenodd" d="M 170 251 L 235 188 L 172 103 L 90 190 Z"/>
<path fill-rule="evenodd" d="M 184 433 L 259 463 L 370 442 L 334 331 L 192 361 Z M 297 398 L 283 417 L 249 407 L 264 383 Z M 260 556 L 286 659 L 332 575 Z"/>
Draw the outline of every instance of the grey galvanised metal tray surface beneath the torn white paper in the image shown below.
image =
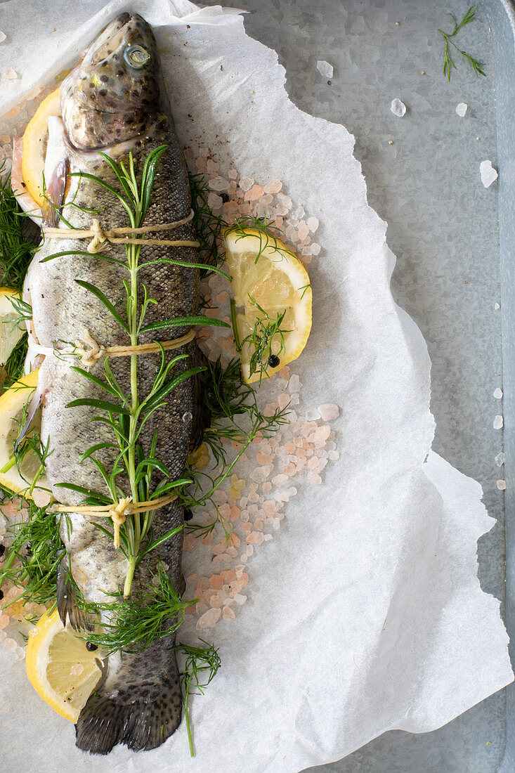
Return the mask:
<path fill-rule="evenodd" d="M 387 241 L 397 255 L 395 298 L 428 342 L 434 448 L 483 485 L 484 501 L 497 520 L 479 540 L 479 579 L 484 591 L 504 601 L 503 492 L 496 487 L 504 473 L 494 461 L 503 438 L 493 429 L 493 418 L 503 412 L 493 399 L 496 386 L 502 386 L 501 312 L 495 309 L 498 186 L 484 189 L 479 179 L 484 159 L 497 168 L 495 71 L 504 83 L 515 73 L 503 2 L 485 0 L 476 21 L 459 33 L 460 47 L 486 63 L 487 77 L 476 78 L 457 54 L 451 83 L 442 75 L 438 28 L 450 31 L 448 12 L 461 19 L 468 0 L 225 0 L 224 5 L 251 12 L 247 32 L 278 51 L 288 94 L 298 107 L 343 123 L 356 136 L 370 205 L 387 221 Z M 333 64 L 330 85 L 316 60 Z M 403 118 L 390 112 L 394 97 L 408 106 Z M 505 90 L 503 99 L 507 136 L 513 93 Z M 469 105 L 465 118 L 455 114 L 459 102 Z M 514 171 L 506 150 L 501 192 L 503 181 L 505 192 L 513 191 L 508 180 L 512 175 L 513 182 Z M 506 212 L 506 226 L 508 217 Z M 503 238 L 507 255 L 509 233 Z M 505 323 L 507 330 L 507 317 Z M 490 773 L 503 759 L 505 720 L 503 691 L 433 733 L 391 731 L 343 761 L 311 770 Z M 506 761 L 505 770 L 515 771 L 515 762 Z"/>

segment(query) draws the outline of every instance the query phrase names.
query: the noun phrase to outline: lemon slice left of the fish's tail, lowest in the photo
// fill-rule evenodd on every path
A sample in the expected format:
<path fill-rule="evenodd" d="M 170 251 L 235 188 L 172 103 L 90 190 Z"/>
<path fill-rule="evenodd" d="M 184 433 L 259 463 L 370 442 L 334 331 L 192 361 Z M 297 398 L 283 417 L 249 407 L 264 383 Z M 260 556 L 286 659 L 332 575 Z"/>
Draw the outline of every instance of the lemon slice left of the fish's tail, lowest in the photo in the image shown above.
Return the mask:
<path fill-rule="evenodd" d="M 30 632 L 26 666 L 36 693 L 71 722 L 77 722 L 102 676 L 95 652 L 63 627 L 57 610 L 43 615 Z"/>

